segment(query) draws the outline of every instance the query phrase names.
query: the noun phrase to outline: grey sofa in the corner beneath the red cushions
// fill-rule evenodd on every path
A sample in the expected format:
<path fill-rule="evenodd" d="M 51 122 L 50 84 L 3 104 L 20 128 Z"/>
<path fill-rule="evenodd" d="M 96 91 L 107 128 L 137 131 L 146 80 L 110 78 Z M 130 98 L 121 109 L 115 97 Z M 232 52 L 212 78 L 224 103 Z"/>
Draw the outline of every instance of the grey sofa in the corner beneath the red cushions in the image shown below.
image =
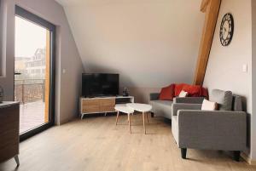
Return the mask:
<path fill-rule="evenodd" d="M 166 117 L 172 119 L 172 104 L 201 104 L 203 97 L 185 97 L 174 98 L 171 100 L 159 100 L 159 93 L 153 93 L 149 96 L 149 104 L 152 105 L 152 113 L 158 117 Z"/>

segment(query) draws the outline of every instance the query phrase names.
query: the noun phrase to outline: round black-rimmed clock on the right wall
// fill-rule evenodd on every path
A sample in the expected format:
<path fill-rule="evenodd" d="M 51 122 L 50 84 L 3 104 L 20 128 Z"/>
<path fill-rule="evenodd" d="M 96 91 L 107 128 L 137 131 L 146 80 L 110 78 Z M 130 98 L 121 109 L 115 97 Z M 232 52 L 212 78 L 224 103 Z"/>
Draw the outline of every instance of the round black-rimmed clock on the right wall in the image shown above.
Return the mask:
<path fill-rule="evenodd" d="M 219 37 L 220 43 L 223 46 L 228 46 L 232 40 L 234 33 L 234 19 L 232 14 L 224 14 L 224 17 L 221 21 Z"/>

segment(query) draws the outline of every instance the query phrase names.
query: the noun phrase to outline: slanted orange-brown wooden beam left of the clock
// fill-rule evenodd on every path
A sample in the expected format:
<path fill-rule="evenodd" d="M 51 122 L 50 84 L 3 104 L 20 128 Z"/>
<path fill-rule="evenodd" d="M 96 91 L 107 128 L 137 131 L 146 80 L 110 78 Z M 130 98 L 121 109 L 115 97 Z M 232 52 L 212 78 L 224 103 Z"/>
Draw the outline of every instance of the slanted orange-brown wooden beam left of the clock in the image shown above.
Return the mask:
<path fill-rule="evenodd" d="M 220 4 L 221 0 L 203 0 L 201 3 L 201 11 L 206 10 L 206 16 L 202 31 L 197 66 L 195 68 L 194 84 L 196 85 L 202 85 L 204 82 L 204 77 L 207 71 L 207 63 L 212 48 L 214 31 L 218 20 Z"/>

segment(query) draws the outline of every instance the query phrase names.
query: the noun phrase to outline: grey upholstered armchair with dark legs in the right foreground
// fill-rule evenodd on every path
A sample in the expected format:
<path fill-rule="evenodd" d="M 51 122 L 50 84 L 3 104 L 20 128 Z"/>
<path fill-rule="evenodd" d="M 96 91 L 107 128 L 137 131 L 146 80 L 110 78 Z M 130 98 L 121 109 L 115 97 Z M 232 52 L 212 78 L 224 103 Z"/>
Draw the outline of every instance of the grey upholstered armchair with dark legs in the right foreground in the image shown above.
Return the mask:
<path fill-rule="evenodd" d="M 247 113 L 241 110 L 241 97 L 230 91 L 212 90 L 210 100 L 219 111 L 201 111 L 201 105 L 172 105 L 172 134 L 186 158 L 187 149 L 234 151 L 239 161 L 246 150 Z"/>

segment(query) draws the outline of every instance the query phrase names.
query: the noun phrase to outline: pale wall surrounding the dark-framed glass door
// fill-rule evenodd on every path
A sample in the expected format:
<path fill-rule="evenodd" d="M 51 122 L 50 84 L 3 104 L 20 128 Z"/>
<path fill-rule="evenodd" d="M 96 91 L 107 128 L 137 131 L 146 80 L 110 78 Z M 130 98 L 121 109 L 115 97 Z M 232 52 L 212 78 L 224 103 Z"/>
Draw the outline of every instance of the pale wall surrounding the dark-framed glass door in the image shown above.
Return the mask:
<path fill-rule="evenodd" d="M 14 100 L 14 60 L 15 60 L 15 4 L 37 14 L 57 26 L 56 31 L 56 97 L 55 123 L 65 123 L 79 114 L 81 73 L 83 72 L 79 52 L 73 40 L 66 15 L 54 0 L 3 0 L 8 9 L 6 33 L 6 77 L 0 77 L 5 100 Z M 61 71 L 66 69 L 66 73 Z"/>

